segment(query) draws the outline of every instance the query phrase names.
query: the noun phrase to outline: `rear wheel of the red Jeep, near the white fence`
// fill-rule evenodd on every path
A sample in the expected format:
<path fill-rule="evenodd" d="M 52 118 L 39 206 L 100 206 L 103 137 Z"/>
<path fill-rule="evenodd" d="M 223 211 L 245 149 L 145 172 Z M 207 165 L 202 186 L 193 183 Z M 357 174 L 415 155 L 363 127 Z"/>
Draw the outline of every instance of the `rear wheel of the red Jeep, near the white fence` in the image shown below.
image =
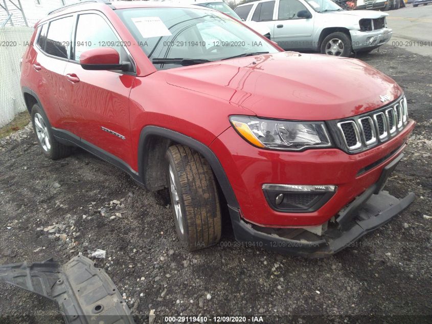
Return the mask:
<path fill-rule="evenodd" d="M 32 123 L 44 155 L 51 160 L 58 160 L 71 154 L 71 146 L 61 144 L 54 138 L 48 117 L 37 103 L 32 107 Z"/>

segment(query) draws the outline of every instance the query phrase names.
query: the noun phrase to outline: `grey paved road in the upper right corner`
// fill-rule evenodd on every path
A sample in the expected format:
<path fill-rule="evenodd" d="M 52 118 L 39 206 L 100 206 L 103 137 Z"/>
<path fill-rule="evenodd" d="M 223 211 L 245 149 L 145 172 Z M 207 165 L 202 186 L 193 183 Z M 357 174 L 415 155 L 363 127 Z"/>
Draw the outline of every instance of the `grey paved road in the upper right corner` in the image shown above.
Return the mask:
<path fill-rule="evenodd" d="M 387 24 L 393 29 L 389 44 L 410 52 L 432 56 L 432 5 L 388 11 Z"/>

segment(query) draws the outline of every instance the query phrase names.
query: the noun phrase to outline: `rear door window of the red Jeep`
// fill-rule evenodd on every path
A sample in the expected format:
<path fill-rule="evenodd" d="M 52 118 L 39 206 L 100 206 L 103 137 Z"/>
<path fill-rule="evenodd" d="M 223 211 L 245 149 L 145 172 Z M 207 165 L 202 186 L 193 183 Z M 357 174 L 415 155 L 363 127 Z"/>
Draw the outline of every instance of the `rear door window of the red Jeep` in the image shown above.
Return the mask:
<path fill-rule="evenodd" d="M 50 22 L 45 52 L 60 58 L 70 58 L 74 17 L 64 17 Z"/>

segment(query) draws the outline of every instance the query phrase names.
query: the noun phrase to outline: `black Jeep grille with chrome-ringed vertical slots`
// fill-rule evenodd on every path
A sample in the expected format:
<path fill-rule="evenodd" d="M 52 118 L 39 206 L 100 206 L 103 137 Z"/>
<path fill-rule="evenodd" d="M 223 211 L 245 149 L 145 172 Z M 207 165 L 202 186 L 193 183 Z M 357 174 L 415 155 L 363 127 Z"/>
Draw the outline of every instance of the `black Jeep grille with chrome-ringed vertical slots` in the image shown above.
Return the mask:
<path fill-rule="evenodd" d="M 333 133 L 340 148 L 349 153 L 361 152 L 402 131 L 408 123 L 406 99 L 402 97 L 375 111 L 329 123 L 337 126 Z"/>

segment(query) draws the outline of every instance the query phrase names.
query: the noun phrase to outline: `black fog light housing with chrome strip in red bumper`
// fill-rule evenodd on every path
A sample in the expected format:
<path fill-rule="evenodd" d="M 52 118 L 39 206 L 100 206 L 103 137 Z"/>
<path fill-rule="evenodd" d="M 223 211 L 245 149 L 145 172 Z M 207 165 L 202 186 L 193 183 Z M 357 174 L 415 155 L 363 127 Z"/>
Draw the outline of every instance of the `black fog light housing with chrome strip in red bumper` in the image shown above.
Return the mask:
<path fill-rule="evenodd" d="M 269 206 L 282 212 L 313 212 L 333 197 L 335 185 L 264 184 L 262 190 Z"/>

